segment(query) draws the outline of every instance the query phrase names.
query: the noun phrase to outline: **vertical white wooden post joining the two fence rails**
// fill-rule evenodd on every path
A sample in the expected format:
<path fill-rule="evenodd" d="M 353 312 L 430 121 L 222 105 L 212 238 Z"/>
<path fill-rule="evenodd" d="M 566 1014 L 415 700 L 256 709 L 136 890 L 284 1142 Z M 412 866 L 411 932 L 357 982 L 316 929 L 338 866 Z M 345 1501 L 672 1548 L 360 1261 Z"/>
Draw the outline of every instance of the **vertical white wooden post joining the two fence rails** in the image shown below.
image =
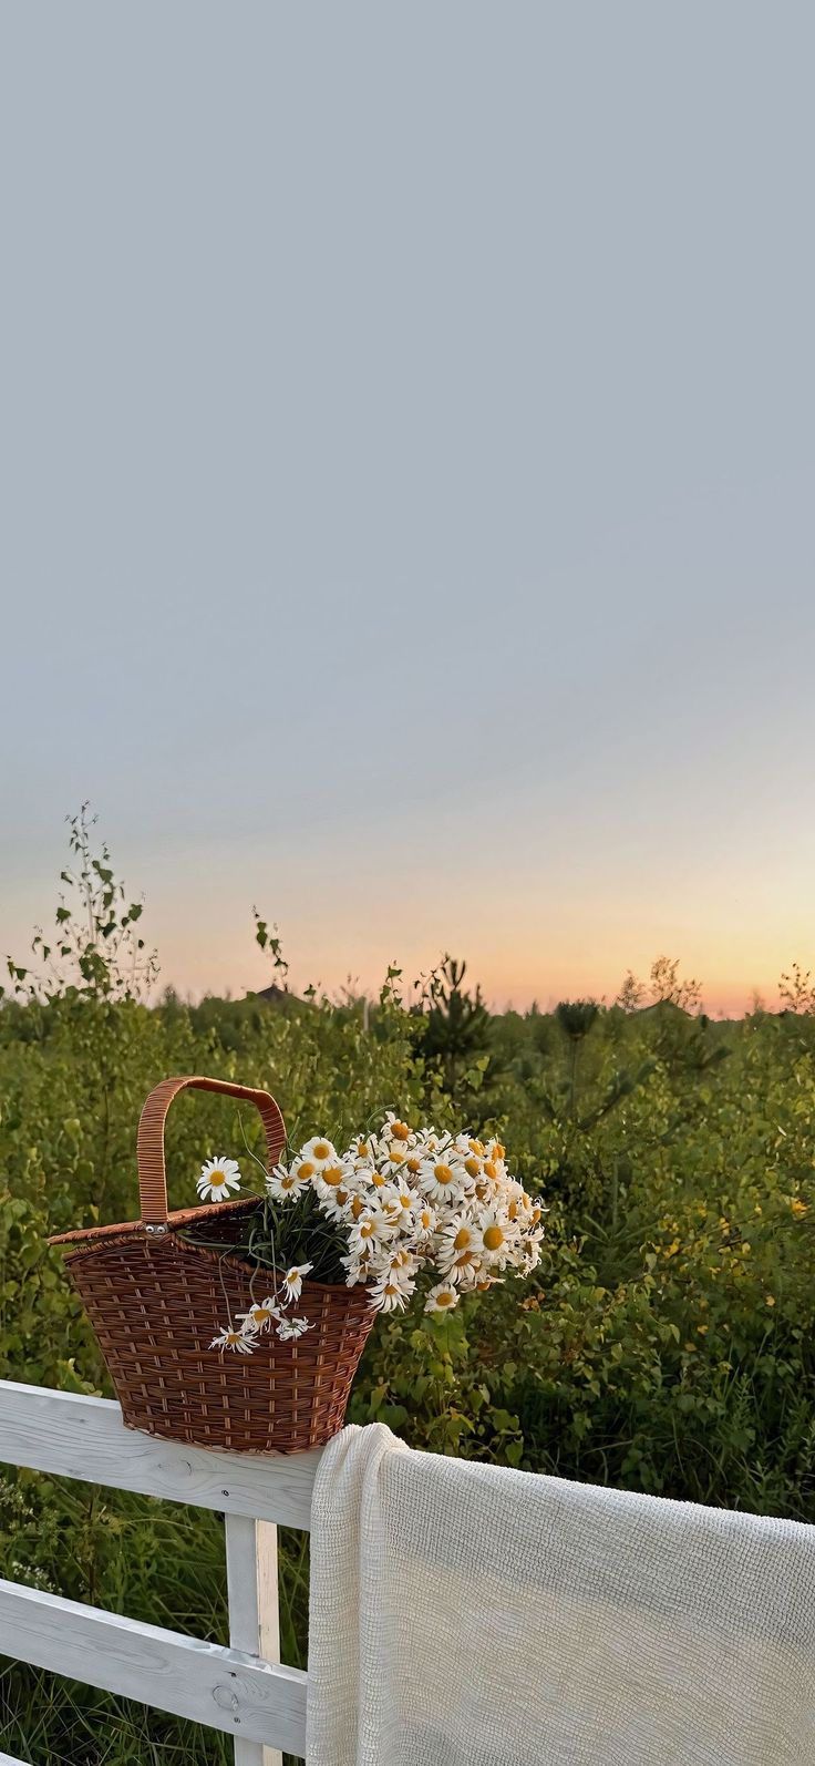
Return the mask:
<path fill-rule="evenodd" d="M 224 1515 L 229 1642 L 265 1662 L 280 1660 L 277 1528 L 272 1521 Z M 235 1766 L 282 1766 L 282 1754 L 235 1736 Z"/>

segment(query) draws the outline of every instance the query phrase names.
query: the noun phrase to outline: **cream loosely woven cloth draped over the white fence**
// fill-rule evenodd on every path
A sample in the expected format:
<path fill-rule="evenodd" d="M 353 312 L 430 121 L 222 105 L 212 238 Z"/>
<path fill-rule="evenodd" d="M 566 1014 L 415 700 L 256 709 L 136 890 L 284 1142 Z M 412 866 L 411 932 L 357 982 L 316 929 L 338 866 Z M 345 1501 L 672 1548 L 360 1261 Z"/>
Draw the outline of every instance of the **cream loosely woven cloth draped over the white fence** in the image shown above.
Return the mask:
<path fill-rule="evenodd" d="M 344 1429 L 309 1766 L 813 1766 L 815 1528 Z"/>

